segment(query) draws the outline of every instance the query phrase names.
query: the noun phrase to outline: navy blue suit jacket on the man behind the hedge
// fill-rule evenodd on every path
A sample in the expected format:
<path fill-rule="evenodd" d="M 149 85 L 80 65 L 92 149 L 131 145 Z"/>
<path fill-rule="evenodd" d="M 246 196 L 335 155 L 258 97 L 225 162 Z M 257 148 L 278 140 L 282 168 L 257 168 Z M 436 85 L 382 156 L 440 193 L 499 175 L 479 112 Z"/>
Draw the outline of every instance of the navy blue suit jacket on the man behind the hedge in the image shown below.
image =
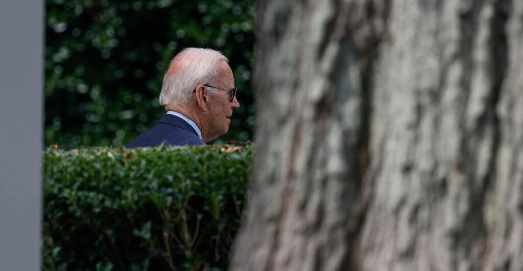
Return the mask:
<path fill-rule="evenodd" d="M 199 137 L 198 133 L 180 117 L 165 114 L 160 122 L 149 131 L 131 140 L 126 147 L 155 147 L 165 142 L 165 145 L 207 145 Z"/>

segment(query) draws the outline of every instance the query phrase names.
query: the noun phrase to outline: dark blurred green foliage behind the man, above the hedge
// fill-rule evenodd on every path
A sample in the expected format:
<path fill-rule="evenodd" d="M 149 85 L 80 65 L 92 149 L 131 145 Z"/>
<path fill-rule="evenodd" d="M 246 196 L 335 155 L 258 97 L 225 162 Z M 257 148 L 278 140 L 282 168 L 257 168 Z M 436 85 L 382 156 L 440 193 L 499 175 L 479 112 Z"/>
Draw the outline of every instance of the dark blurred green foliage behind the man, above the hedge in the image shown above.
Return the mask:
<path fill-rule="evenodd" d="M 164 73 L 186 47 L 229 57 L 241 107 L 212 143 L 252 139 L 254 0 L 48 0 L 47 146 L 121 146 L 160 120 Z"/>

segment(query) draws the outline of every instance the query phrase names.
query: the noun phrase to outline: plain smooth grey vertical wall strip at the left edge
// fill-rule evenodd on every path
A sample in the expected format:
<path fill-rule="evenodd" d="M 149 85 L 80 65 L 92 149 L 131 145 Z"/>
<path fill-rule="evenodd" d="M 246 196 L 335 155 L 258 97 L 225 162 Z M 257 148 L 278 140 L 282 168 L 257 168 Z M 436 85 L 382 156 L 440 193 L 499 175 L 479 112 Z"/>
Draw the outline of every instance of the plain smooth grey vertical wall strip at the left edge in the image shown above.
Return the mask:
<path fill-rule="evenodd" d="M 0 270 L 40 269 L 43 0 L 0 1 Z"/>

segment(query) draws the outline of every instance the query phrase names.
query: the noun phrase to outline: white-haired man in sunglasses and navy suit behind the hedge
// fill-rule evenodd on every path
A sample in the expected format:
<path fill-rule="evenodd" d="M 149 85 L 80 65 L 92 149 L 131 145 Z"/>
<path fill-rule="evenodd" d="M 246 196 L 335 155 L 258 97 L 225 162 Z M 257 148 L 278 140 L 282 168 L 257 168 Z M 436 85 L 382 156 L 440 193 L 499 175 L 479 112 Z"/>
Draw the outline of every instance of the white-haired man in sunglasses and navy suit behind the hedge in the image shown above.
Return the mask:
<path fill-rule="evenodd" d="M 160 104 L 167 113 L 126 147 L 207 145 L 229 131 L 230 117 L 240 107 L 229 60 L 221 53 L 187 48 L 165 73 Z"/>

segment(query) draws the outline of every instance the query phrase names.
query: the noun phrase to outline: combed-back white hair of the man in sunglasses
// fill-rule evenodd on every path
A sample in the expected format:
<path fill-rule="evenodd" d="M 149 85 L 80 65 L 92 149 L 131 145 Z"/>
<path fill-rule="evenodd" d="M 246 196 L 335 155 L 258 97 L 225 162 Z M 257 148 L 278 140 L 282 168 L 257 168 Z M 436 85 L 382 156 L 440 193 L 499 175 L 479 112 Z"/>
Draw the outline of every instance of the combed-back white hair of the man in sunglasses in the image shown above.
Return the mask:
<path fill-rule="evenodd" d="M 222 53 L 211 49 L 186 48 L 178 53 L 165 72 L 160 104 L 184 104 L 198 85 L 216 83 L 221 60 L 229 62 Z"/>

